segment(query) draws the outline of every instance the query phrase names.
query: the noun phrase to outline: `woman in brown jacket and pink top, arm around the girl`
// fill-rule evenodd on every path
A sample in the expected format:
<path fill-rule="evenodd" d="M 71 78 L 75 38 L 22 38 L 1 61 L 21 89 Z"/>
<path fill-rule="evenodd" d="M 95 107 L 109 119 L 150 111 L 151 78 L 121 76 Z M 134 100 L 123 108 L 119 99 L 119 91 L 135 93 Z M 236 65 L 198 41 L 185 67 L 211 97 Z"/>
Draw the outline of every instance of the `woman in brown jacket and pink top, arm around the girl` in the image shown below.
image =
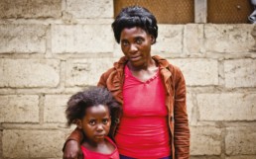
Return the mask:
<path fill-rule="evenodd" d="M 124 57 L 102 74 L 98 86 L 106 87 L 122 105 L 109 134 L 120 158 L 188 159 L 185 79 L 178 67 L 151 55 L 158 37 L 155 16 L 143 7 L 127 7 L 112 29 Z M 64 158 L 75 158 L 82 138 L 76 128 L 66 140 Z"/>

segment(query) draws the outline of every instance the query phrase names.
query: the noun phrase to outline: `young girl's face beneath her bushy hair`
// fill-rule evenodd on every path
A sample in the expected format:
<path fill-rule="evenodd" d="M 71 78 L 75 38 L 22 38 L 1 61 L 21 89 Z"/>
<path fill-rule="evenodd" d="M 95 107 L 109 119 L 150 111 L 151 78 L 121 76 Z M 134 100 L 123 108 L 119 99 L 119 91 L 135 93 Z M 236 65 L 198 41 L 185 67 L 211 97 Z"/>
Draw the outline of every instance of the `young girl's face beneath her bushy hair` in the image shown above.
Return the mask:
<path fill-rule="evenodd" d="M 83 119 L 78 119 L 77 125 L 81 128 L 86 139 L 91 143 L 104 140 L 111 124 L 110 112 L 107 106 L 92 106 L 85 110 Z"/>

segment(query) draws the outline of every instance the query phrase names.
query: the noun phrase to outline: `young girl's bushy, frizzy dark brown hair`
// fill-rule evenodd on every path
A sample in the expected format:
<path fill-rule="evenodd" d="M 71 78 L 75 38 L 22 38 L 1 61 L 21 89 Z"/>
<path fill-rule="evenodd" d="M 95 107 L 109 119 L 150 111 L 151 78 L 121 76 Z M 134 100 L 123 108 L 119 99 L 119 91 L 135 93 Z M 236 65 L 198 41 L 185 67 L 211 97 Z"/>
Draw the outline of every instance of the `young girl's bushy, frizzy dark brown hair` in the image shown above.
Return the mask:
<path fill-rule="evenodd" d="M 107 89 L 93 86 L 70 97 L 65 110 L 67 125 L 76 123 L 76 119 L 82 119 L 87 108 L 98 105 L 108 107 L 111 120 L 115 120 L 120 112 L 120 105 Z"/>

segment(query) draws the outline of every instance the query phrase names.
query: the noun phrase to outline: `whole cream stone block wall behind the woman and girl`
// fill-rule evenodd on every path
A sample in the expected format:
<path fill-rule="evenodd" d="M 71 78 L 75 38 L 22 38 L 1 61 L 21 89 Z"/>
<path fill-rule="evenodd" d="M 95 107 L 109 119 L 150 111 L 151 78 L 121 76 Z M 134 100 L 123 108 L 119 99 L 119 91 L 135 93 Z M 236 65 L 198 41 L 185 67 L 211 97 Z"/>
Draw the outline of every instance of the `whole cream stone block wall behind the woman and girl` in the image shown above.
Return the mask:
<path fill-rule="evenodd" d="M 112 0 L 0 1 L 0 158 L 61 159 L 64 106 L 121 55 Z M 185 74 L 192 159 L 256 158 L 253 25 L 159 25 Z"/>

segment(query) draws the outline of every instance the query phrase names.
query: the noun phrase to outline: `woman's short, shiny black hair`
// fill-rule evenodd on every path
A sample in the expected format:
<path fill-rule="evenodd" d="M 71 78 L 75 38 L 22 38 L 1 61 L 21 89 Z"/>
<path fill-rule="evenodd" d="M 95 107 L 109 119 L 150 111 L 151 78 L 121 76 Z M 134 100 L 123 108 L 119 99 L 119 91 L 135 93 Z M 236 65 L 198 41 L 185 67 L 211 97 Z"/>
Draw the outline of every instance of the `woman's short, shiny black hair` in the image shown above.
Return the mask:
<path fill-rule="evenodd" d="M 156 42 L 158 38 L 158 25 L 155 16 L 146 8 L 140 6 L 126 7 L 116 16 L 112 23 L 115 40 L 120 42 L 120 35 L 123 29 L 140 27 L 152 35 Z"/>

